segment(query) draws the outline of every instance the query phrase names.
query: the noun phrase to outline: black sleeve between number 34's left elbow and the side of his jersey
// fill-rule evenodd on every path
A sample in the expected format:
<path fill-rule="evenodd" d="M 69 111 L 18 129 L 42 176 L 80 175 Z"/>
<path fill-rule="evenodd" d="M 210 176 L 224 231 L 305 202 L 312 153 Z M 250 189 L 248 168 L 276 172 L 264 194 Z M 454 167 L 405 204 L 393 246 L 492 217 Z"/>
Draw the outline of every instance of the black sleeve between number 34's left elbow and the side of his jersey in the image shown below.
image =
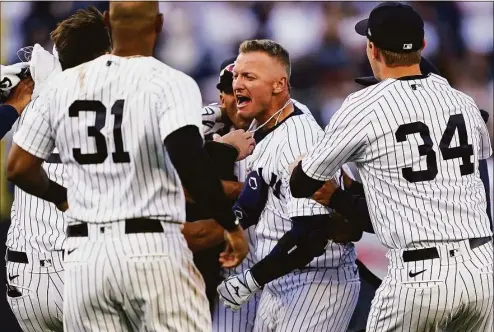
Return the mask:
<path fill-rule="evenodd" d="M 350 222 L 360 224 L 365 232 L 374 233 L 365 197 L 337 188 L 331 195 L 328 206 Z"/>

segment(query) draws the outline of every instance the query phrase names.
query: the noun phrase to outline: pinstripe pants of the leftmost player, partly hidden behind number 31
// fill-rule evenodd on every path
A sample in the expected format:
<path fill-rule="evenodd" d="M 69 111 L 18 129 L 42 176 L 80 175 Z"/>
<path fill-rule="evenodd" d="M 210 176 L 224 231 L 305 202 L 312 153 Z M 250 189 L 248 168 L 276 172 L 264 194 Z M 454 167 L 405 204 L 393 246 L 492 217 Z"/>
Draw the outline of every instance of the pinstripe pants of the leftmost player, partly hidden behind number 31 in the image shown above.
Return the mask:
<path fill-rule="evenodd" d="M 28 263 L 7 260 L 10 308 L 25 332 L 63 331 L 62 252 L 28 253 L 26 256 Z"/>

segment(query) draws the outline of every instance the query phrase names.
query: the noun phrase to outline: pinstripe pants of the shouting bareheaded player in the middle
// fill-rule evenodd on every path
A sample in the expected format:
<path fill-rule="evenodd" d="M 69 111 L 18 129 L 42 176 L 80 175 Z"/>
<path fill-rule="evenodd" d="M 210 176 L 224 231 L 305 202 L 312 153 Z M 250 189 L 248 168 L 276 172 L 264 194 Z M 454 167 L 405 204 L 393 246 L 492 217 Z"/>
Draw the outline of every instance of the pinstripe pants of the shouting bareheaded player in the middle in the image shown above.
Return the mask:
<path fill-rule="evenodd" d="M 262 291 L 255 332 L 345 332 L 358 301 L 357 265 L 295 270 Z"/>

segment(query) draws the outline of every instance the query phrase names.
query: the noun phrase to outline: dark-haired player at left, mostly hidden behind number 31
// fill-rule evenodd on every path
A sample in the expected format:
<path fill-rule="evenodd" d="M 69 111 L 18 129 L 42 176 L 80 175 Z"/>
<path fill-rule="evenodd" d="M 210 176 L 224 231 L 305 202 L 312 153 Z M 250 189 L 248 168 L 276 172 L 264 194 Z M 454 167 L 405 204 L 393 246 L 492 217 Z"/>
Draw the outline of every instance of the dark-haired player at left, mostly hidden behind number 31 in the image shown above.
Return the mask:
<path fill-rule="evenodd" d="M 81 36 L 91 36 L 87 39 Z M 97 38 L 100 36 L 100 38 Z M 103 16 L 95 8 L 78 10 L 60 22 L 51 33 L 61 61 L 36 45 L 31 54 L 34 75 L 33 101 L 26 107 L 21 126 L 28 113 L 37 112 L 36 96 L 50 75 L 73 67 L 110 51 L 110 39 Z M 51 67 L 52 63 L 56 66 Z M 58 153 L 43 163 L 48 177 L 62 186 L 69 184 Z M 65 218 L 53 204 L 15 188 L 11 226 L 7 235 L 7 300 L 24 331 L 62 331 L 63 245 Z"/>

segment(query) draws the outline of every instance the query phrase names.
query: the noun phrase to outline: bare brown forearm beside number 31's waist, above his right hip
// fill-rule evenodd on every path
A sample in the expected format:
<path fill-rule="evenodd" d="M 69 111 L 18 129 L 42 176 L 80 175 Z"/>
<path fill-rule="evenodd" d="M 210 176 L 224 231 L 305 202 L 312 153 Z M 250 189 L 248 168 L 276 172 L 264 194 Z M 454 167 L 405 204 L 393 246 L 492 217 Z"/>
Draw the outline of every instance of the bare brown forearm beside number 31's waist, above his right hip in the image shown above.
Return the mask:
<path fill-rule="evenodd" d="M 182 234 L 192 252 L 214 247 L 225 240 L 223 228 L 214 219 L 187 222 Z"/>

